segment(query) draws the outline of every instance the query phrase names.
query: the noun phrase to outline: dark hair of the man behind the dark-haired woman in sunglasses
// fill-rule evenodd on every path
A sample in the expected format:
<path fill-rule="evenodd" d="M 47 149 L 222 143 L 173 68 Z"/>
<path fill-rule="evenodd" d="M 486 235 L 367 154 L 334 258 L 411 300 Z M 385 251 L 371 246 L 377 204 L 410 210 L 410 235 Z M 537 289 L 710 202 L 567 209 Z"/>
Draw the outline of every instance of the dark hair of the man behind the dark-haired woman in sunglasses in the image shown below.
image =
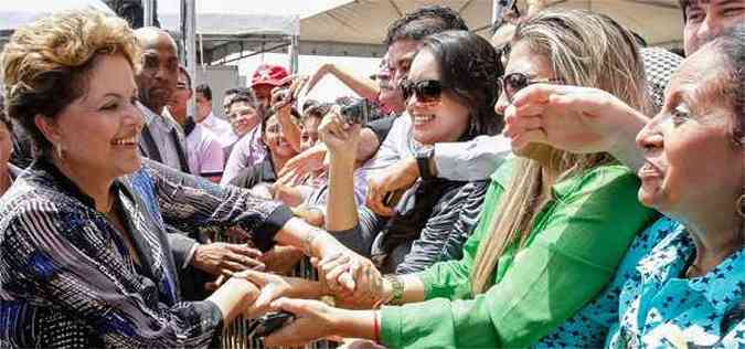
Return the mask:
<path fill-rule="evenodd" d="M 404 14 L 389 27 L 385 45 L 398 40 L 423 40 L 446 30 L 468 30 L 464 19 L 455 10 L 444 6 L 427 6 Z"/>

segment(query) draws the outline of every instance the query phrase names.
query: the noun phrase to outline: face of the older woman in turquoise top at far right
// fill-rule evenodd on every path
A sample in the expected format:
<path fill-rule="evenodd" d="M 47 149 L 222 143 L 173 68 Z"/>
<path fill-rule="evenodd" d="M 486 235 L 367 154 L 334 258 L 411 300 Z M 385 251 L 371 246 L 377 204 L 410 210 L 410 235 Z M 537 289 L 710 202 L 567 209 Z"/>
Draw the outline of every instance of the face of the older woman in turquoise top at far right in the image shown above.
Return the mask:
<path fill-rule="evenodd" d="M 731 83 L 728 63 L 715 51 L 704 46 L 683 62 L 662 110 L 637 136 L 646 158 L 639 200 L 673 216 L 731 212 L 745 180 L 744 152 L 732 140 L 733 105 L 723 89 Z"/>

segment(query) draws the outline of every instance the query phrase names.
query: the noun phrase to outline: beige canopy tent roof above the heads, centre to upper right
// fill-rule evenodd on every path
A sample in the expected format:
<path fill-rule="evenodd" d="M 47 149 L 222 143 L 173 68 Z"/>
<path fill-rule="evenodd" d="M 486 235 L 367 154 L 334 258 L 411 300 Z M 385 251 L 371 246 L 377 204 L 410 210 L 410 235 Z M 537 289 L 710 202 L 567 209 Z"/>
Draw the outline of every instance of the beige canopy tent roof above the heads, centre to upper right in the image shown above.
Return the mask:
<path fill-rule="evenodd" d="M 380 56 L 387 25 L 426 4 L 457 10 L 472 31 L 490 35 L 493 0 L 349 0 L 300 22 L 300 53 Z M 547 7 L 586 9 L 610 15 L 650 45 L 675 46 L 682 40 L 678 0 L 546 0 Z M 518 0 L 524 10 L 525 0 Z M 524 11 L 523 11 L 524 13 Z"/>

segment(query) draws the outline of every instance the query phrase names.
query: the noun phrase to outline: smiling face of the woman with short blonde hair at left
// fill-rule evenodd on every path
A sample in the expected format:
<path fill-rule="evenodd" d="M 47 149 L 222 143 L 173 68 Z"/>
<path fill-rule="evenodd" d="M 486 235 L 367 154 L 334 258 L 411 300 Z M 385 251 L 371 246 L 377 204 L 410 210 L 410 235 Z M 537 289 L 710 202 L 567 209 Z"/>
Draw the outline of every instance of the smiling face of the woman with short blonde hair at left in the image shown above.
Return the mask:
<path fill-rule="evenodd" d="M 63 149 L 61 161 L 78 173 L 114 179 L 140 168 L 137 145 L 142 115 L 131 66 L 120 55 L 99 55 L 88 73 L 86 92 L 54 120 L 36 117 L 44 136 Z"/>

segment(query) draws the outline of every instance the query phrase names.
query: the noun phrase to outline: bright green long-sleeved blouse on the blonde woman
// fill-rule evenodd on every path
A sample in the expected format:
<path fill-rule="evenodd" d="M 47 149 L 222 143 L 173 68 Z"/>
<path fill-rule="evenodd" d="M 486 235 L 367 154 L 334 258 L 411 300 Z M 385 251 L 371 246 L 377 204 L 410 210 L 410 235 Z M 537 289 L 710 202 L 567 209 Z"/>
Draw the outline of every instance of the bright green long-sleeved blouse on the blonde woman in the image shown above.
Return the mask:
<path fill-rule="evenodd" d="M 493 286 L 473 297 L 471 265 L 509 183 L 510 163 L 491 177 L 462 260 L 440 262 L 416 274 L 427 300 L 383 307 L 383 345 L 530 346 L 603 289 L 634 236 L 656 218 L 638 202 L 638 179 L 625 167 L 602 166 L 567 178 L 553 186 L 553 199 L 538 214 L 525 245 L 514 245 L 499 258 Z"/>

